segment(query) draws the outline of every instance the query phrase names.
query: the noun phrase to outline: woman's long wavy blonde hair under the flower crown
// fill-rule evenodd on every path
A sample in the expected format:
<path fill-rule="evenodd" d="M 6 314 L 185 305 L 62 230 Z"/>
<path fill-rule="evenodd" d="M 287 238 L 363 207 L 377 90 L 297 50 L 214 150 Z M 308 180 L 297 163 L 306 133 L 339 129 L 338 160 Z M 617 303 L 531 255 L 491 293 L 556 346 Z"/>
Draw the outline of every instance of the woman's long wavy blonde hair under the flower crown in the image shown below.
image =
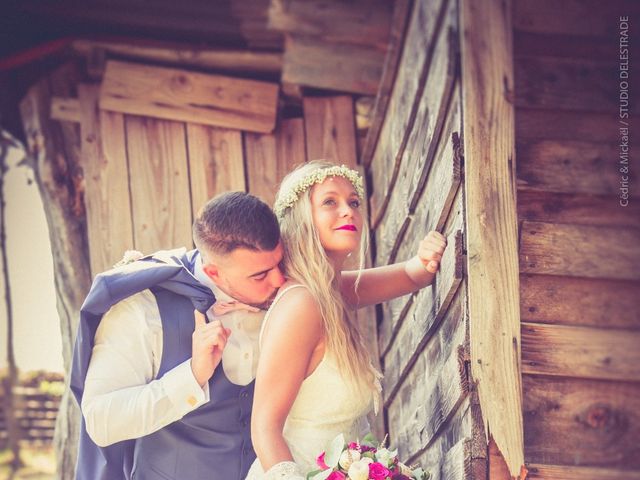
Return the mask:
<path fill-rule="evenodd" d="M 334 166 L 336 165 L 325 160 L 300 165 L 282 180 L 276 194 L 276 204 L 278 199 L 286 198 L 302 178 L 312 175 L 314 171 Z M 355 324 L 354 315 L 346 308 L 340 293 L 339 277 L 322 247 L 313 222 L 312 188 L 302 192 L 298 200 L 278 219 L 284 245 L 285 275 L 306 285 L 318 303 L 326 332 L 326 348 L 334 356 L 340 371 L 347 372 L 360 388 L 373 389 L 375 371 L 369 354 Z M 360 200 L 364 202 L 366 199 Z M 366 219 L 363 218 L 364 221 Z M 363 224 L 358 252 L 360 270 L 364 268 L 367 244 L 368 228 Z"/>

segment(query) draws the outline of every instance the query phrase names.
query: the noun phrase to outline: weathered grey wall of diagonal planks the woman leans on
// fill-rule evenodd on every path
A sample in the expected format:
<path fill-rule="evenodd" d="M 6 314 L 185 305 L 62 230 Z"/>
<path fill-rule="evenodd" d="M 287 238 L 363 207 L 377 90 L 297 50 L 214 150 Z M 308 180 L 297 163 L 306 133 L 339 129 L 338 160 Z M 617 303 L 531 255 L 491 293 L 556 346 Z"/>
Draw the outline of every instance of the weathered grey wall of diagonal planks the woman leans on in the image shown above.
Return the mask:
<path fill-rule="evenodd" d="M 487 465 L 468 374 L 458 19 L 454 0 L 396 2 L 362 156 L 376 265 L 410 258 L 430 230 L 448 240 L 434 284 L 383 305 L 378 328 L 390 444 L 435 480 Z"/>

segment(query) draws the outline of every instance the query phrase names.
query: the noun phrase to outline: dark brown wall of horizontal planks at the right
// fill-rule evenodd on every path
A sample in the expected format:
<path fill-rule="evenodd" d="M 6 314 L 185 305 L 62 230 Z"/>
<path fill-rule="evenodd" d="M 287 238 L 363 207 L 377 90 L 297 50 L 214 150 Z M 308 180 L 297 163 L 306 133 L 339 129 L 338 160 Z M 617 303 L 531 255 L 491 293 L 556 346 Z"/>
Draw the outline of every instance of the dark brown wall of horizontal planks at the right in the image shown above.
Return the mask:
<path fill-rule="evenodd" d="M 626 207 L 619 202 L 618 110 L 619 17 L 637 23 L 638 13 L 626 0 L 514 2 L 532 479 L 640 478 L 640 197 L 632 166 L 634 196 Z M 639 105 L 632 103 L 632 142 Z"/>

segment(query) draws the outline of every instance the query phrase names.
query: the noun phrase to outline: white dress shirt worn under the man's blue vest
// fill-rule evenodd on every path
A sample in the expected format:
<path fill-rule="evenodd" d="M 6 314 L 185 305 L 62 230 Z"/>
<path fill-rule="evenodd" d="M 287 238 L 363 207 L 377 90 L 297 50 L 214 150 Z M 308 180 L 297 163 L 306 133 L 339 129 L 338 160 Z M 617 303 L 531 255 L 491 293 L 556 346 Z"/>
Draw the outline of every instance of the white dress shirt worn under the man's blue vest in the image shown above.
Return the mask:
<path fill-rule="evenodd" d="M 203 272 L 200 258 L 194 270 L 217 300 L 233 300 Z M 215 318 L 213 309 L 207 317 Z M 247 385 L 255 379 L 263 318 L 263 311 L 246 310 L 220 317 L 232 332 L 221 362 L 232 383 Z M 191 359 L 156 379 L 161 360 L 162 322 L 151 291 L 132 295 L 104 315 L 96 331 L 82 398 L 87 432 L 96 444 L 106 446 L 148 435 L 209 401 L 209 387 L 201 388 L 195 380 Z"/>

